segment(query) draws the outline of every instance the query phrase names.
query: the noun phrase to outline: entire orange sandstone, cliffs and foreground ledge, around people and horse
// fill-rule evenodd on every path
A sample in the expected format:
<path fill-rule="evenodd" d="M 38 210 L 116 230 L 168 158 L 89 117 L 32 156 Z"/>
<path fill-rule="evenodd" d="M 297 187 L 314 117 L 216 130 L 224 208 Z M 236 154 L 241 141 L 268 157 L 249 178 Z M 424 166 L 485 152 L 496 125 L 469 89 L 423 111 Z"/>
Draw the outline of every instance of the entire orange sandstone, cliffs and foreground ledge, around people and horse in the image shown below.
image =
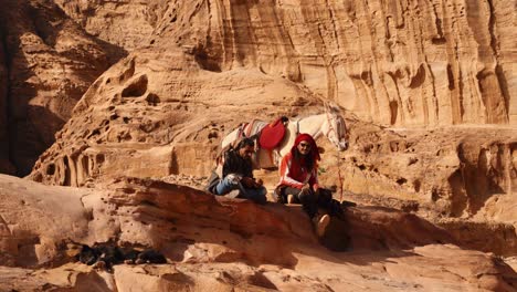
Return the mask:
<path fill-rule="evenodd" d="M 0 171 L 25 174 L 55 133 L 29 177 L 81 187 L 2 178 L 1 289 L 515 289 L 484 253 L 517 255 L 515 0 L 0 2 Z M 299 210 L 162 182 L 200 188 L 236 125 L 327 101 L 350 149 L 319 139 L 320 179 L 359 202 L 333 227 L 349 253 Z M 70 240 L 173 264 L 60 267 Z"/>

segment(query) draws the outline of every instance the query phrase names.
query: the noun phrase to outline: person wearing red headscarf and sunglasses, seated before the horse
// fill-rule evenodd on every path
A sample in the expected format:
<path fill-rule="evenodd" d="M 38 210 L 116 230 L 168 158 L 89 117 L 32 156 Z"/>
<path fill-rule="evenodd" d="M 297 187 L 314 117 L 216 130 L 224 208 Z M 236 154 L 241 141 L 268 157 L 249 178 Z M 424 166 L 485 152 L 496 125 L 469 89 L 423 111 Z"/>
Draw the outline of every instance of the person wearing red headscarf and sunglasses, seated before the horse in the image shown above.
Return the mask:
<path fill-rule="evenodd" d="M 313 136 L 299 134 L 291 152 L 282 159 L 276 194 L 281 202 L 300 202 L 305 212 L 313 219 L 316 233 L 321 237 L 330 222 L 330 217 L 318 213 L 319 159 L 319 150 Z"/>

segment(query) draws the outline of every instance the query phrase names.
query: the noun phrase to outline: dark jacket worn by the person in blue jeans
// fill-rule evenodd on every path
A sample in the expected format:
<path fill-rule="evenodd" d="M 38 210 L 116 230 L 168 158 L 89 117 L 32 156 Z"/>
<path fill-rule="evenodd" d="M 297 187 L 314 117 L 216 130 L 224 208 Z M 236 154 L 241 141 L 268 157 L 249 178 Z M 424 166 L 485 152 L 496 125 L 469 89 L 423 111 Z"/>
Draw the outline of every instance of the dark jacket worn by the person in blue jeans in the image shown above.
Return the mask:
<path fill-rule="evenodd" d="M 218 171 L 219 168 L 219 171 Z M 242 177 L 253 178 L 252 163 L 242 158 L 236 150 L 230 149 L 224 153 L 222 170 L 218 167 L 212 170 L 205 190 L 215 194 L 215 186 L 219 181 L 230 174 L 240 175 Z"/>

